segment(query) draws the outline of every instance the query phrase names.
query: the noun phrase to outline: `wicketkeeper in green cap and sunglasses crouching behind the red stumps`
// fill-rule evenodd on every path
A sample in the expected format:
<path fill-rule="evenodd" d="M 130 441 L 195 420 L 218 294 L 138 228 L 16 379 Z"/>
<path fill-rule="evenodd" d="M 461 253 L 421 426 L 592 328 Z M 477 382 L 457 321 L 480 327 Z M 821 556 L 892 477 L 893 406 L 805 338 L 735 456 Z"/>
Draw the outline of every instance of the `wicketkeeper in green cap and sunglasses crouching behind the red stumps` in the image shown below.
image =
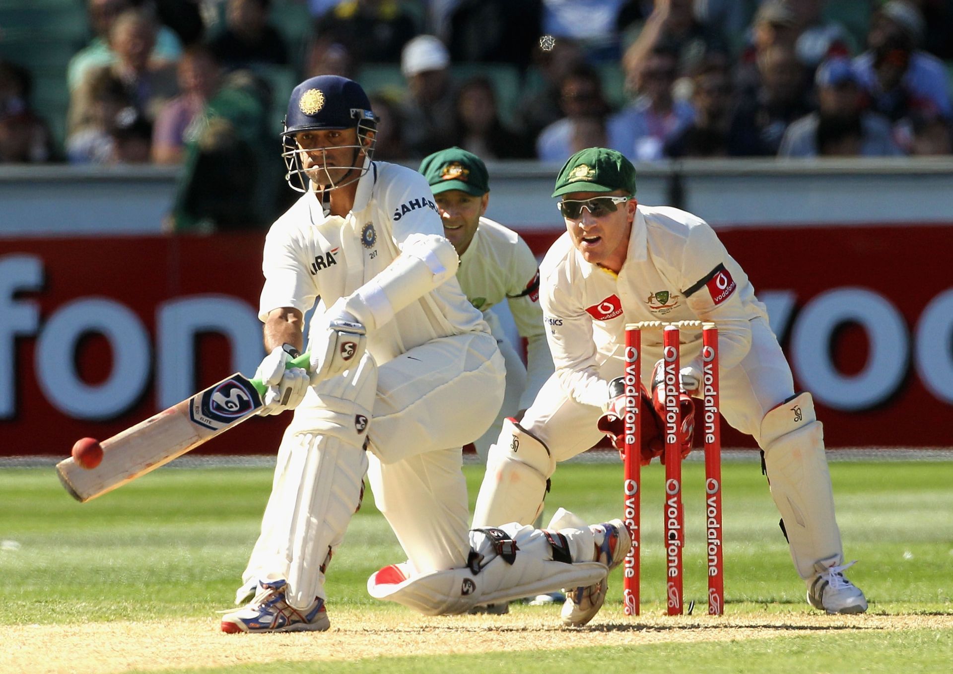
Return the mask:
<path fill-rule="evenodd" d="M 661 385 L 661 330 L 641 331 L 639 377 L 651 384 L 651 393 L 643 389 L 639 401 L 642 465 L 661 455 L 662 430 L 676 439 L 666 462 L 687 456 L 695 399 L 717 397 L 724 420 L 752 436 L 763 452 L 807 602 L 827 613 L 864 612 L 863 592 L 843 573 L 850 564 L 843 563 L 821 421 L 811 394 L 795 393 L 764 304 L 704 220 L 676 208 L 644 206 L 635 194 L 636 170 L 614 150 L 582 150 L 559 171 L 553 196 L 566 233 L 539 268 L 539 301 L 556 374 L 490 448 L 473 526 L 530 523 L 559 461 L 605 435 L 622 449 L 627 323 L 695 321 L 680 327 L 680 368 L 677 377 L 669 373 L 679 391 L 674 382 L 671 390 Z M 717 357 L 703 348 L 701 321 L 718 328 Z M 720 376 L 717 390 L 713 367 Z M 628 397 L 639 396 L 638 384 L 630 391 Z M 679 424 L 666 422 L 666 397 L 678 404 Z M 563 523 L 551 521 L 546 528 Z M 669 607 L 681 610 L 680 591 L 673 588 Z M 567 593 L 563 623 L 588 623 L 605 593 L 605 582 Z"/>

